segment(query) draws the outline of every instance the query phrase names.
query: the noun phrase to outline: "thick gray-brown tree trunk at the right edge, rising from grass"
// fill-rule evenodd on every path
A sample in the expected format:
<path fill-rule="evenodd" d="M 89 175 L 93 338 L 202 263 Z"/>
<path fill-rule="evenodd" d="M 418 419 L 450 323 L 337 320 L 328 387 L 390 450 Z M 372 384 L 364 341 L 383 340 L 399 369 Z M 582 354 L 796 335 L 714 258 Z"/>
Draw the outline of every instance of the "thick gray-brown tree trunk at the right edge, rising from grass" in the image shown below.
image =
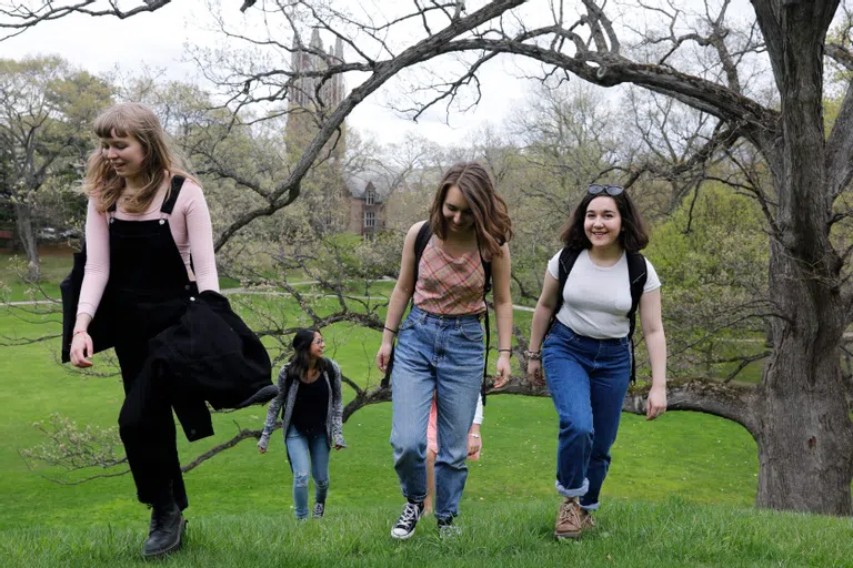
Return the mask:
<path fill-rule="evenodd" d="M 771 163 L 779 194 L 771 239 L 773 355 L 759 398 L 760 507 L 850 515 L 853 424 L 841 371 L 846 325 L 842 261 L 830 241 L 823 130 L 823 2 L 784 4 L 775 77 L 782 140 Z M 781 49 L 779 49 L 781 48 Z M 780 168 L 781 165 L 781 168 Z"/>

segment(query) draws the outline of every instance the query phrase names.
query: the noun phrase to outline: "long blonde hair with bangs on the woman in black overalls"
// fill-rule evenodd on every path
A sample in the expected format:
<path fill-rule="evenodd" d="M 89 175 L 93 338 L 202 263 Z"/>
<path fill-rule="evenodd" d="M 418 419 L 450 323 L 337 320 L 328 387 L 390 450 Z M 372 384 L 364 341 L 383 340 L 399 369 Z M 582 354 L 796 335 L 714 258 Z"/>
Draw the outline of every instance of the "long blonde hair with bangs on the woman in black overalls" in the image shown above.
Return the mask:
<path fill-rule="evenodd" d="M 110 106 L 94 120 L 94 133 L 98 138 L 133 136 L 142 145 L 145 184 L 133 200 L 122 204 L 122 209 L 128 213 L 148 211 L 167 175 L 171 179 L 178 174 L 198 183 L 187 172 L 182 156 L 170 146 L 169 135 L 160 120 L 144 104 L 126 102 Z M 100 212 L 107 211 L 119 201 L 121 192 L 124 191 L 124 180 L 116 174 L 100 144 L 89 155 L 83 191 L 87 195 L 97 197 Z M 167 187 L 165 199 L 169 199 L 169 191 L 170 187 Z"/>

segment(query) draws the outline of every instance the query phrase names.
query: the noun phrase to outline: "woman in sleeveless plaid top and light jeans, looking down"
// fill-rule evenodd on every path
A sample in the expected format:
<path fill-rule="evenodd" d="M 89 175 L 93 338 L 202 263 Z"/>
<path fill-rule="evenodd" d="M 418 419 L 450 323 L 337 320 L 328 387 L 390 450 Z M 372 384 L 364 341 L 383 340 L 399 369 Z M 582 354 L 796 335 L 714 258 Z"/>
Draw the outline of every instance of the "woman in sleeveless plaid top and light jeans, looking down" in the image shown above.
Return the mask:
<path fill-rule="evenodd" d="M 430 224 L 433 235 L 415 267 L 415 241 L 424 223 Z M 426 423 L 433 393 L 440 440 L 435 518 L 440 534 L 454 531 L 453 518 L 468 477 L 468 430 L 476 409 L 485 357 L 480 323 L 485 312 L 483 262 L 491 263 L 498 316 L 495 386 L 503 386 L 510 377 L 512 298 L 506 242 L 511 237 L 506 204 L 488 172 L 474 162 L 448 170 L 430 219 L 415 223 L 405 237 L 400 277 L 388 305 L 382 346 L 377 354 L 377 364 L 384 372 L 394 335 L 399 334 L 391 372 L 391 445 L 407 504 L 391 530 L 394 538 L 411 537 L 423 513 Z M 409 316 L 400 325 L 412 297 Z"/>

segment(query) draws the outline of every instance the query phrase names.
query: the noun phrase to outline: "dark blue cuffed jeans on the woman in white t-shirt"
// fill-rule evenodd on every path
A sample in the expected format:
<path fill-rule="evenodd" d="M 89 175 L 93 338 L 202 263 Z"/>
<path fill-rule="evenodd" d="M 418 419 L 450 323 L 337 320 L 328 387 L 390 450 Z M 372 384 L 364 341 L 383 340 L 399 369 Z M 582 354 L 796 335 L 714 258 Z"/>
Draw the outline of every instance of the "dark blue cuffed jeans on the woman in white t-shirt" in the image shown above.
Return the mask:
<path fill-rule="evenodd" d="M 594 339 L 556 322 L 542 367 L 560 417 L 556 490 L 595 510 L 631 381 L 631 347 L 626 337 Z"/>

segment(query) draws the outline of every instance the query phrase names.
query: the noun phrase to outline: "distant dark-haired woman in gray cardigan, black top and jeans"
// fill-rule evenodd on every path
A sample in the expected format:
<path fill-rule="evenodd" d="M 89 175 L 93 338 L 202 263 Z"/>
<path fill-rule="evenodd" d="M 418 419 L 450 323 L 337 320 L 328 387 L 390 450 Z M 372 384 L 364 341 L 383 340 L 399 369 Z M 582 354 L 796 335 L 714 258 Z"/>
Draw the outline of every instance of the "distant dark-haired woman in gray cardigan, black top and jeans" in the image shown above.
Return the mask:
<path fill-rule="evenodd" d="M 329 454 L 345 448 L 341 369 L 323 358 L 325 341 L 320 332 L 300 329 L 293 336 L 293 356 L 279 372 L 279 395 L 270 403 L 258 449 L 267 453 L 270 434 L 283 407 L 281 430 L 293 471 L 297 519 L 308 518 L 308 471 L 314 479 L 314 518 L 325 513 L 329 491 Z"/>

